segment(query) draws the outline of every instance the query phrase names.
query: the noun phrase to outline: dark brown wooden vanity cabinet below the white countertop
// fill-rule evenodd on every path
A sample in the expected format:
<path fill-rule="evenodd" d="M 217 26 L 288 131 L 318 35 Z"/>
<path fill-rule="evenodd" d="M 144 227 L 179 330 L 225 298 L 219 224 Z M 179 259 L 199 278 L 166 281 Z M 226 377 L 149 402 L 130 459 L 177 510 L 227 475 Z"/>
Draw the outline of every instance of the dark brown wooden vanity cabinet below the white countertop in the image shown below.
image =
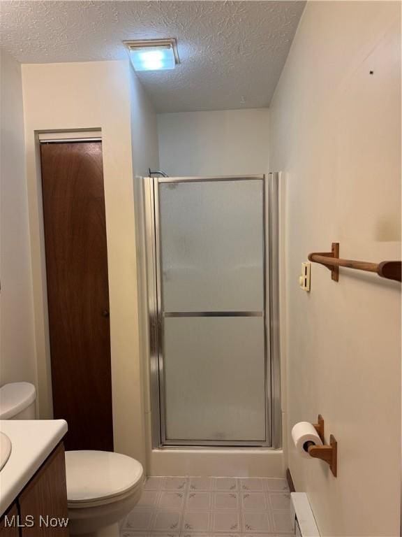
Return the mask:
<path fill-rule="evenodd" d="M 68 526 L 65 525 L 68 521 L 68 508 L 63 443 L 59 443 L 20 492 L 12 509 L 15 510 L 15 514 L 19 515 L 16 519 L 17 523 L 13 527 L 6 528 L 3 517 L 0 537 L 68 537 L 70 535 Z M 9 515 L 8 519 L 10 519 Z"/>

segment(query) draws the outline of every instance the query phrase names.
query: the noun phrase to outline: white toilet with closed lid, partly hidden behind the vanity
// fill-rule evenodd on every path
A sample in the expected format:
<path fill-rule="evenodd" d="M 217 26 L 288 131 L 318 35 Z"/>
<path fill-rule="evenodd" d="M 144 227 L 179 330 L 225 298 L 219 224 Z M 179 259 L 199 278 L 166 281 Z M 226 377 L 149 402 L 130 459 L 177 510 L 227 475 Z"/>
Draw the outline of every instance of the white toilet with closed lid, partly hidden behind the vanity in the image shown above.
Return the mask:
<path fill-rule="evenodd" d="M 35 420 L 36 389 L 29 382 L 0 388 L 0 420 Z M 119 520 L 135 507 L 143 488 L 142 465 L 107 451 L 66 451 L 70 536 L 118 537 Z"/>

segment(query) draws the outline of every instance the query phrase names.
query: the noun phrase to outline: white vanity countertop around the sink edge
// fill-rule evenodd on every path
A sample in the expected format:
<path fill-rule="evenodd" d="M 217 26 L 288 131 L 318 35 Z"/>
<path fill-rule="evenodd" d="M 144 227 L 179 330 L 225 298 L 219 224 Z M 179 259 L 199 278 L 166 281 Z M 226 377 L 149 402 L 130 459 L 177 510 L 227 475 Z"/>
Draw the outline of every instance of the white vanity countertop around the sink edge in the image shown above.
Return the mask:
<path fill-rule="evenodd" d="M 65 420 L 0 420 L 12 443 L 0 471 L 0 516 L 13 503 L 67 432 Z"/>

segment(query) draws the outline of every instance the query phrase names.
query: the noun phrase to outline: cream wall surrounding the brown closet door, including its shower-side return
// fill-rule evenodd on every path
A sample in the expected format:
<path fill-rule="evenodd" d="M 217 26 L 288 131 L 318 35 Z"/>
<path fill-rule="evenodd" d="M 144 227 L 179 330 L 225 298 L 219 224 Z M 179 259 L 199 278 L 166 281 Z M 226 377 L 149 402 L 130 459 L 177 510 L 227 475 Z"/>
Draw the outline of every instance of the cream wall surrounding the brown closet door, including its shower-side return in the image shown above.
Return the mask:
<path fill-rule="evenodd" d="M 114 448 L 145 463 L 133 176 L 158 165 L 156 117 L 128 61 L 27 64 L 22 75 L 40 412 L 52 401 L 36 132 L 101 128 Z"/>

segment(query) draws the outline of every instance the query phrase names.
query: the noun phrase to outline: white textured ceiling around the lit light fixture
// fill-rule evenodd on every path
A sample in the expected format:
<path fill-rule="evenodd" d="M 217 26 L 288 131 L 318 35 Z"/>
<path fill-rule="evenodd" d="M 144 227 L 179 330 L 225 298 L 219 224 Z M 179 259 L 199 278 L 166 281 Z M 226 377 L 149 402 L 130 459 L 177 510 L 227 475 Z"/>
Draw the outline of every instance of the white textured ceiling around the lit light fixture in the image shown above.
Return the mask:
<path fill-rule="evenodd" d="M 304 1 L 0 3 L 1 45 L 22 63 L 125 59 L 121 41 L 177 38 L 174 71 L 138 73 L 159 112 L 269 105 Z"/>

